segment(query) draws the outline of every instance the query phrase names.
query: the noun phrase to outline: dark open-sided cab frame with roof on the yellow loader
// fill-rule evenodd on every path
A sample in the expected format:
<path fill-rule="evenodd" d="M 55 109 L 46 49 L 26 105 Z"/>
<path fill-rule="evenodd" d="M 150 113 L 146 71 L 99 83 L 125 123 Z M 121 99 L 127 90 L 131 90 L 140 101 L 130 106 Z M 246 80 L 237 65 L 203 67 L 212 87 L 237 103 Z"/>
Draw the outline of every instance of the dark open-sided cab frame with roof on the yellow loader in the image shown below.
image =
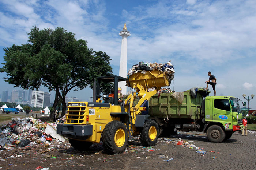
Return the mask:
<path fill-rule="evenodd" d="M 114 104 L 114 105 L 118 105 L 118 82 L 123 82 L 123 81 L 127 81 L 127 78 L 123 78 L 117 75 L 112 75 L 112 76 L 104 76 L 104 77 L 97 77 L 94 80 L 94 84 L 93 84 L 93 102 L 96 102 L 96 96 L 100 95 L 100 84 L 101 82 L 113 82 L 114 83 L 114 98 L 106 98 L 104 102 L 105 103 L 110 103 L 110 104 Z M 98 100 L 98 98 L 97 98 Z"/>

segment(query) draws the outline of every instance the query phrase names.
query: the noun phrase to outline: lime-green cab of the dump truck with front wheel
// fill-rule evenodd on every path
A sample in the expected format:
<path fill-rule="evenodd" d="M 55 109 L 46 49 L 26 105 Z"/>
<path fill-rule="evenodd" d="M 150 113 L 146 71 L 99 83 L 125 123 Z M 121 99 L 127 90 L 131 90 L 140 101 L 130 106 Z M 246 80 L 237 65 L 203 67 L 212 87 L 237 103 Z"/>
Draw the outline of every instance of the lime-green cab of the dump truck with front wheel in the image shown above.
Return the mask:
<path fill-rule="evenodd" d="M 202 114 L 204 132 L 212 142 L 222 142 L 224 139 L 229 139 L 237 130 L 242 130 L 242 114 L 238 99 L 231 96 L 208 96 L 202 104 Z M 212 128 L 214 125 L 215 128 Z M 221 127 L 225 131 L 225 137 L 222 137 Z M 211 129 L 209 130 L 209 128 Z M 223 138 L 223 139 L 222 139 Z"/>

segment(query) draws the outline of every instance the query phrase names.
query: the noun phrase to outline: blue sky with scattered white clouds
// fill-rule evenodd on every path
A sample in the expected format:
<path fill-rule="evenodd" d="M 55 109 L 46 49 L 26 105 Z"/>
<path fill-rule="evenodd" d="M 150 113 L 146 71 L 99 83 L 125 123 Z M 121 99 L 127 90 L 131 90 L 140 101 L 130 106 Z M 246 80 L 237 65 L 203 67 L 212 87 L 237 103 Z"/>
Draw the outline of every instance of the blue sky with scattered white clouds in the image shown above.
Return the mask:
<path fill-rule="evenodd" d="M 127 69 L 139 61 L 171 60 L 176 71 L 172 90 L 206 87 L 211 71 L 217 78 L 217 95 L 242 99 L 246 94 L 247 98 L 256 95 L 255 11 L 255 0 L 1 0 L 0 63 L 4 62 L 2 49 L 27 43 L 33 26 L 63 27 L 76 39 L 87 40 L 89 48 L 106 52 L 118 75 L 118 33 L 126 23 L 131 33 Z M 4 82 L 5 76 L 0 73 L 1 90 L 20 89 Z M 88 101 L 92 90 L 71 91 L 67 96 Z M 256 108 L 256 99 L 250 101 L 250 108 Z"/>

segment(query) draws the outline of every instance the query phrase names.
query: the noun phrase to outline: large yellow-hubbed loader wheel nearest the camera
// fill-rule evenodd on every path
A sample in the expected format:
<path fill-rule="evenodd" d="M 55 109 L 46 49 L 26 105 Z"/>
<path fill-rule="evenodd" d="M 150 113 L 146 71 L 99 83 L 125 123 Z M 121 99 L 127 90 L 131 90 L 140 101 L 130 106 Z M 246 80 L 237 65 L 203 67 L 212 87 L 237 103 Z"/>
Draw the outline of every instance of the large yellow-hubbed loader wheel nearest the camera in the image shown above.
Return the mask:
<path fill-rule="evenodd" d="M 102 142 L 108 153 L 122 153 L 128 143 L 128 133 L 124 123 L 116 120 L 109 122 L 103 130 Z"/>

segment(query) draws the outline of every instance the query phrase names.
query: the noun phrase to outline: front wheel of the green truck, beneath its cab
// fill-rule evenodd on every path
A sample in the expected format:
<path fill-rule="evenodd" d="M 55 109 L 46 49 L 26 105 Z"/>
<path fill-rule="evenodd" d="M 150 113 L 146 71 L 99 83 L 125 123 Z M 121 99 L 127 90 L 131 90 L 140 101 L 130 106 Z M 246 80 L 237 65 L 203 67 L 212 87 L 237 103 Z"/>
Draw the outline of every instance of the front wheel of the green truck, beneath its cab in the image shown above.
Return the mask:
<path fill-rule="evenodd" d="M 211 125 L 206 134 L 208 140 L 215 143 L 222 142 L 226 137 L 224 130 L 219 125 Z"/>

